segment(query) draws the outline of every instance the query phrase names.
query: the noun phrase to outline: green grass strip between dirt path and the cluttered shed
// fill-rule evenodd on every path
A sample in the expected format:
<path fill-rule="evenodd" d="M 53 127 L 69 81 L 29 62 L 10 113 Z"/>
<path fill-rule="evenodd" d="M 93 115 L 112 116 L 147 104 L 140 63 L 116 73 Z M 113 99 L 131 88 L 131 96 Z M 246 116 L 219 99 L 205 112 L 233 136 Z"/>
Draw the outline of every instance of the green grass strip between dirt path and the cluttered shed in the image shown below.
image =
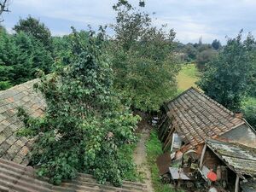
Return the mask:
<path fill-rule="evenodd" d="M 155 192 L 172 192 L 169 185 L 161 183 L 156 158 L 162 154 L 161 143 L 155 130 L 151 131 L 150 137 L 146 143 L 148 167 L 150 167 L 152 184 Z"/>

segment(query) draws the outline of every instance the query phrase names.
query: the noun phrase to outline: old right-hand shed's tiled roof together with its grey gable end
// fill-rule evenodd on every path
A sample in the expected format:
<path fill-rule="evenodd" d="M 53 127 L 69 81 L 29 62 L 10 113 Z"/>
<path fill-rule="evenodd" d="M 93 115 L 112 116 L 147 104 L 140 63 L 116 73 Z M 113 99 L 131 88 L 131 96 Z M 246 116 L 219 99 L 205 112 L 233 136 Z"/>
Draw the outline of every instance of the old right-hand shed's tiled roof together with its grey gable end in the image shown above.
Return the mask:
<path fill-rule="evenodd" d="M 165 103 L 159 137 L 169 152 L 202 146 L 208 137 L 256 147 L 256 133 L 246 120 L 193 87 Z"/>

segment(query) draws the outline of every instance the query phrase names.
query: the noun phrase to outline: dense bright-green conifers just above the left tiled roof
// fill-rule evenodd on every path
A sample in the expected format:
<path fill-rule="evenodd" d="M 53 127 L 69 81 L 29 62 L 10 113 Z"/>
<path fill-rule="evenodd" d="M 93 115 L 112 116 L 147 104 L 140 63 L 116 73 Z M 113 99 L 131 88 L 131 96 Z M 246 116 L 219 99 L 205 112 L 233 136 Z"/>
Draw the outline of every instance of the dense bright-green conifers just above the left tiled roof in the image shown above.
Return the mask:
<path fill-rule="evenodd" d="M 0 90 L 34 79 L 38 69 L 49 73 L 53 62 L 38 39 L 0 28 Z"/>

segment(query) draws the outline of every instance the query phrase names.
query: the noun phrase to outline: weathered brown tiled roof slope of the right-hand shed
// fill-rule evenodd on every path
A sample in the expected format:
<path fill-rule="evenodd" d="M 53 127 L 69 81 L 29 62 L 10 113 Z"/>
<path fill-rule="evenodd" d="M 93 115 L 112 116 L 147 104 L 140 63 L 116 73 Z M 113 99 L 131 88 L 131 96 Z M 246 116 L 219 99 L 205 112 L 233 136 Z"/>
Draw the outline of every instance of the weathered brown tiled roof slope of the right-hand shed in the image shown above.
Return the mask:
<path fill-rule="evenodd" d="M 191 87 L 165 105 L 177 134 L 195 146 L 207 137 L 218 137 L 245 122 L 227 108 Z"/>

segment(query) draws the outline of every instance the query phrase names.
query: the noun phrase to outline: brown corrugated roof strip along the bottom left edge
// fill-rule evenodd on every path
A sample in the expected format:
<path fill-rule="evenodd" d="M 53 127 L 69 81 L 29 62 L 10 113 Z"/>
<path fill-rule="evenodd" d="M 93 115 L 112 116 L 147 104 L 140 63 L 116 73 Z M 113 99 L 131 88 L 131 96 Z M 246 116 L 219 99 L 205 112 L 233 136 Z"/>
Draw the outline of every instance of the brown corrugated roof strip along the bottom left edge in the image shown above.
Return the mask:
<path fill-rule="evenodd" d="M 79 174 L 79 177 L 61 186 L 47 183 L 47 178 L 38 178 L 32 167 L 22 166 L 9 160 L 0 158 L 0 191 L 15 192 L 146 192 L 147 187 L 143 183 L 124 182 L 122 188 L 115 188 L 109 183 L 102 185 L 87 174 Z"/>

